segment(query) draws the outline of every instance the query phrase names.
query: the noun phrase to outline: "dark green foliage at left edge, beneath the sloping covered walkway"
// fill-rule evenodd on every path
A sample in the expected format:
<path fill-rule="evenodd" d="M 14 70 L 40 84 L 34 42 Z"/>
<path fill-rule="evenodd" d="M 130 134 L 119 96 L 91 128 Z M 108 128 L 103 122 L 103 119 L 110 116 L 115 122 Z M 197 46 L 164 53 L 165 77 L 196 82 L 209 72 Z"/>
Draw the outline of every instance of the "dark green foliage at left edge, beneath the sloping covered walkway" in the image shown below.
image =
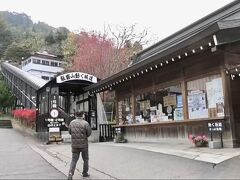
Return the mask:
<path fill-rule="evenodd" d="M 11 91 L 6 86 L 5 82 L 0 79 L 0 111 L 6 112 L 7 108 L 13 107 L 14 105 L 14 96 L 11 94 Z"/>

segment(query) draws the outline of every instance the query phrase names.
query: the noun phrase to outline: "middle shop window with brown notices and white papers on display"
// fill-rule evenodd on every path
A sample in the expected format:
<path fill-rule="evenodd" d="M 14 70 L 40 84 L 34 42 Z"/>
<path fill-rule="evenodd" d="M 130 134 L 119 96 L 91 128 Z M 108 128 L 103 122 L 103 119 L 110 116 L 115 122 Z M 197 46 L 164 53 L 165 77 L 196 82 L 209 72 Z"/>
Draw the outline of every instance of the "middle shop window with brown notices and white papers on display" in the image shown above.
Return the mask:
<path fill-rule="evenodd" d="M 136 123 L 183 120 L 181 85 L 136 97 Z"/>

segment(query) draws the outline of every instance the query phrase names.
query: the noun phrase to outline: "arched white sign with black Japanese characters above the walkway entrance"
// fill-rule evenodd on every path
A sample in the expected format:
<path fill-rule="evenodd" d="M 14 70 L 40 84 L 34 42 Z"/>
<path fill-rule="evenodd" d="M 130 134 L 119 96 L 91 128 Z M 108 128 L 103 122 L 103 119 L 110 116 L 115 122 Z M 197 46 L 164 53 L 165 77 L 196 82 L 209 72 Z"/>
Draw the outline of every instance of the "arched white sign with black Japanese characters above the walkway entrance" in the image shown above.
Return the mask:
<path fill-rule="evenodd" d="M 66 73 L 58 76 L 56 78 L 57 83 L 63 83 L 65 81 L 71 81 L 71 80 L 83 80 L 83 81 L 89 81 L 92 83 L 97 83 L 97 78 L 91 74 L 82 73 L 82 72 L 71 72 Z"/>

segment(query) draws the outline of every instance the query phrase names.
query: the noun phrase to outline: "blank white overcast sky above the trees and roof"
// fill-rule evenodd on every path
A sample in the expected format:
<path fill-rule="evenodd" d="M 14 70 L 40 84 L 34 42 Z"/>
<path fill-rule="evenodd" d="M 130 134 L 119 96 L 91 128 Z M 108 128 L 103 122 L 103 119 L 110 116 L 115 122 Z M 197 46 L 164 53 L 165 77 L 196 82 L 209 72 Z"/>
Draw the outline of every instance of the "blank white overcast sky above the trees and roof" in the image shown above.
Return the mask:
<path fill-rule="evenodd" d="M 104 25 L 148 30 L 161 40 L 233 0 L 0 0 L 0 11 L 24 12 L 34 22 L 71 31 L 103 32 Z"/>

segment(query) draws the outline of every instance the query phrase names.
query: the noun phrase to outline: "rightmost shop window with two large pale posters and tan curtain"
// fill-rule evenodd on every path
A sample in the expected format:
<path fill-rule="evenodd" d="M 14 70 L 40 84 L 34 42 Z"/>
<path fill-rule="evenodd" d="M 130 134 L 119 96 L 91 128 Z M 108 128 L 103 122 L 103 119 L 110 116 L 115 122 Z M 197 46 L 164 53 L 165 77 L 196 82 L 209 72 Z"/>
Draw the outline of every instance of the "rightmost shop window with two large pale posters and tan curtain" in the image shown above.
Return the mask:
<path fill-rule="evenodd" d="M 224 116 L 222 78 L 213 75 L 187 82 L 189 119 Z"/>

